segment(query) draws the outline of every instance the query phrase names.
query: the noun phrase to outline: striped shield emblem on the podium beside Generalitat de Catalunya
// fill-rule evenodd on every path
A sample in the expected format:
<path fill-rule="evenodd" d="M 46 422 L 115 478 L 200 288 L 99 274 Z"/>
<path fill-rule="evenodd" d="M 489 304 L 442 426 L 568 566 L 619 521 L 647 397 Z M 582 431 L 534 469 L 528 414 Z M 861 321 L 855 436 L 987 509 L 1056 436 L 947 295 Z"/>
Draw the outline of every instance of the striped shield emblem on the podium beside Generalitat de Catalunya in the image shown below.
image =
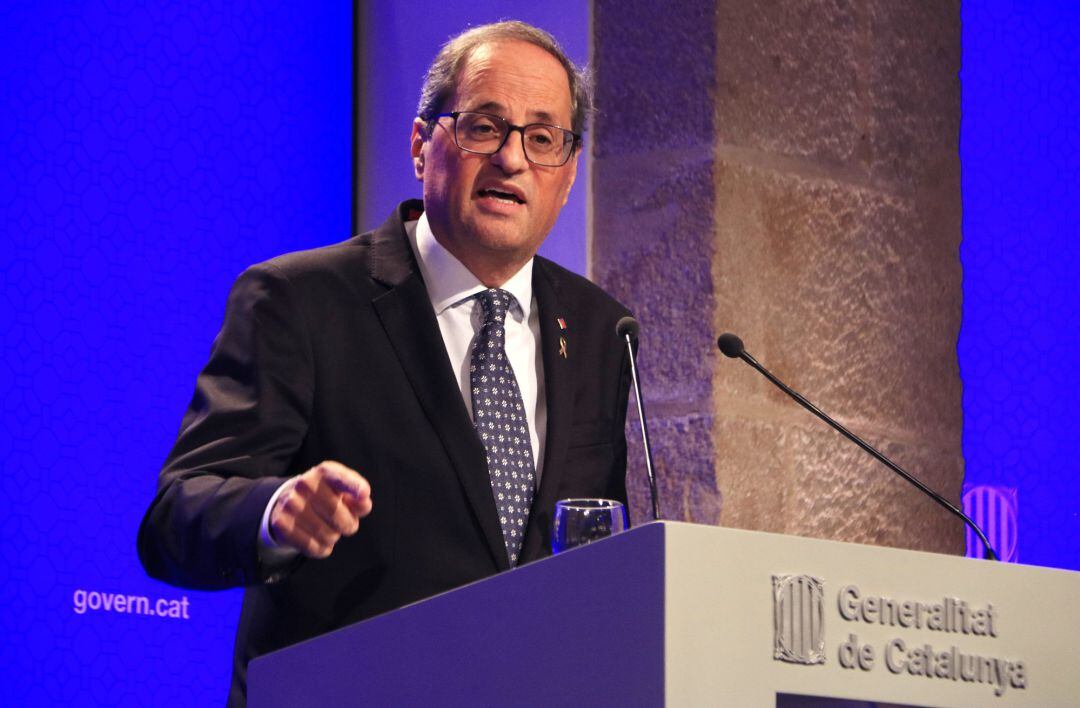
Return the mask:
<path fill-rule="evenodd" d="M 773 657 L 825 663 L 825 584 L 812 575 L 772 576 Z"/>

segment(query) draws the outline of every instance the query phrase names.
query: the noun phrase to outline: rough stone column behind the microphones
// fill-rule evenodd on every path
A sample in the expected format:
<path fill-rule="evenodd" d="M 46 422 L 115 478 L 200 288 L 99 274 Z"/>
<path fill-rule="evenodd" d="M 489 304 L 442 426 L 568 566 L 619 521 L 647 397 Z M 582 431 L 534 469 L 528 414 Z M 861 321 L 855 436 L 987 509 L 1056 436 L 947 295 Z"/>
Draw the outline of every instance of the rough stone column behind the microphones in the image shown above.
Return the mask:
<path fill-rule="evenodd" d="M 959 522 L 715 345 L 739 333 L 959 501 L 958 0 L 594 0 L 593 32 L 591 274 L 642 322 L 664 515 L 961 553 Z"/>

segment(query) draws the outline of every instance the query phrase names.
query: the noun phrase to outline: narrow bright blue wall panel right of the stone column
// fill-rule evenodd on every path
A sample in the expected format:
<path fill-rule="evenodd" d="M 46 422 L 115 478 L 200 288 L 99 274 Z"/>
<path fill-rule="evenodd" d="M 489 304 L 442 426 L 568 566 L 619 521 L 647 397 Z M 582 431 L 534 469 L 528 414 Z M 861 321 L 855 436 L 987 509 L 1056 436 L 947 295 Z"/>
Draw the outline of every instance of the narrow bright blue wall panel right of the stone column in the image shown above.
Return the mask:
<path fill-rule="evenodd" d="M 1022 562 L 1080 569 L 1080 6 L 962 13 L 967 480 L 1016 490 Z"/>

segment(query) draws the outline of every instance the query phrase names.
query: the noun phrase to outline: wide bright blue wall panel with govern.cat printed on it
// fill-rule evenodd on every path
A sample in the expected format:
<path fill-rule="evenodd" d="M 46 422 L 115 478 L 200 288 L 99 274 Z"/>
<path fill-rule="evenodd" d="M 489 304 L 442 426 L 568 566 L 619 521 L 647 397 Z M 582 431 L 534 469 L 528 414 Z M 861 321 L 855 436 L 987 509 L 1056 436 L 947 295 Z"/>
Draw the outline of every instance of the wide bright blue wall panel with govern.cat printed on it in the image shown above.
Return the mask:
<path fill-rule="evenodd" d="M 150 581 L 135 531 L 232 278 L 349 236 L 351 22 L 0 9 L 0 703 L 224 700 L 239 594 Z"/>

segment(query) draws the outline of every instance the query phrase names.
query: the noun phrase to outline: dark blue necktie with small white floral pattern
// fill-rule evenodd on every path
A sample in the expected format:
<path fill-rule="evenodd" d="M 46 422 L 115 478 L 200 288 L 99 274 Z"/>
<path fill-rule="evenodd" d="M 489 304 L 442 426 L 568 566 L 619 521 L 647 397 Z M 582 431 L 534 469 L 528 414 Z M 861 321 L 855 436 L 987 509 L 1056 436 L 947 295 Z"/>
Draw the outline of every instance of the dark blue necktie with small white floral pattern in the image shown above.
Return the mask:
<path fill-rule="evenodd" d="M 532 504 L 532 445 L 522 392 L 505 350 L 503 322 L 514 296 L 491 288 L 476 295 L 484 314 L 469 366 L 473 424 L 487 451 L 487 472 L 499 509 L 510 564 L 525 536 Z"/>

